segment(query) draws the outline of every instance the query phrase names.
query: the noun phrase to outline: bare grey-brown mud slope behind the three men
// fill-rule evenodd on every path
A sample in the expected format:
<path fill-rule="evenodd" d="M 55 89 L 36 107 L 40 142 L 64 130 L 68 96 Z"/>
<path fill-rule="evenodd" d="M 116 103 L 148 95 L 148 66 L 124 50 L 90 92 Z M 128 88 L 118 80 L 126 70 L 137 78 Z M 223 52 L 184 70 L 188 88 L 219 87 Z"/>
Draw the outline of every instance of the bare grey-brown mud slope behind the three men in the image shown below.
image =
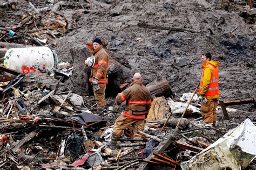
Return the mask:
<path fill-rule="evenodd" d="M 202 71 L 200 56 L 211 52 L 213 60 L 220 61 L 220 98 L 231 101 L 255 97 L 252 32 L 256 27 L 240 17 L 242 3 L 117 1 L 110 5 L 110 10 L 98 8 L 77 17 L 77 26 L 82 27 L 58 39 L 55 49 L 59 61 L 74 62 L 71 48 L 100 37 L 115 54 L 112 57 L 122 64 L 126 62 L 124 67 L 132 72 L 140 72 L 145 84 L 166 77 L 178 100 L 196 88 Z M 167 34 L 169 30 L 141 28 L 139 22 L 199 32 Z M 233 38 L 228 36 L 232 30 Z M 232 108 L 255 113 L 250 104 Z"/>

